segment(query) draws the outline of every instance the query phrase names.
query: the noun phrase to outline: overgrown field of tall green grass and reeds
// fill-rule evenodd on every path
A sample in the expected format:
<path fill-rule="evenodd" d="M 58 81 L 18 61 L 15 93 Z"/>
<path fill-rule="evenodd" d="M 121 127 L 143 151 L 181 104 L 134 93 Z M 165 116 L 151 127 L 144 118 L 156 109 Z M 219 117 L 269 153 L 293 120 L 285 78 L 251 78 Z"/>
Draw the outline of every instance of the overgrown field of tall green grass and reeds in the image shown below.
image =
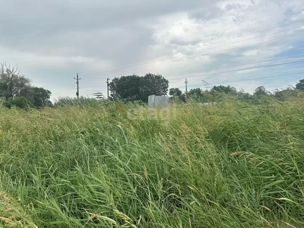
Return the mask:
<path fill-rule="evenodd" d="M 304 227 L 304 100 L 0 107 L 0 227 Z"/>

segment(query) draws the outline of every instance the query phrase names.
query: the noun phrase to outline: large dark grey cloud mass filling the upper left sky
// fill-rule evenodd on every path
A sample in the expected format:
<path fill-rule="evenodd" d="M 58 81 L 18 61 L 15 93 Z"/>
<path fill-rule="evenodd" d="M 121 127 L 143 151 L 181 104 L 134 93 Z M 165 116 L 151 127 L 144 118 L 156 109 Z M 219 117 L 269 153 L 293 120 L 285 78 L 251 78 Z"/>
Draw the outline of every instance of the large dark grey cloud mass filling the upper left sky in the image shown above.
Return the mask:
<path fill-rule="evenodd" d="M 135 60 L 155 44 L 151 25 L 158 16 L 198 6 L 199 0 L 6 0 L 1 4 L 0 45 L 43 55 Z"/>

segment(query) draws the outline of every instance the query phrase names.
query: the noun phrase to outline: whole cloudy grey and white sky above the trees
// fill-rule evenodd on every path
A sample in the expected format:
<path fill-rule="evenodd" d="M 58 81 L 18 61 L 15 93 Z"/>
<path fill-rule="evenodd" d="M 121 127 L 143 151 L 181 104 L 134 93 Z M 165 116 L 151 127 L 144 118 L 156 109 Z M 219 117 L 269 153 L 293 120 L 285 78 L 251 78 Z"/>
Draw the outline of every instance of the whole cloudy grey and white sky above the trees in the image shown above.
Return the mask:
<path fill-rule="evenodd" d="M 18 64 L 52 98 L 75 96 L 76 73 L 80 95 L 106 94 L 107 78 L 148 72 L 182 91 L 185 78 L 189 89 L 203 88 L 204 80 L 251 93 L 304 78 L 297 74 L 304 72 L 303 0 L 1 0 L 0 6 L 0 60 Z M 275 66 L 261 67 L 268 65 Z M 270 76 L 278 77 L 263 78 Z M 260 79 L 239 81 L 252 78 Z"/>

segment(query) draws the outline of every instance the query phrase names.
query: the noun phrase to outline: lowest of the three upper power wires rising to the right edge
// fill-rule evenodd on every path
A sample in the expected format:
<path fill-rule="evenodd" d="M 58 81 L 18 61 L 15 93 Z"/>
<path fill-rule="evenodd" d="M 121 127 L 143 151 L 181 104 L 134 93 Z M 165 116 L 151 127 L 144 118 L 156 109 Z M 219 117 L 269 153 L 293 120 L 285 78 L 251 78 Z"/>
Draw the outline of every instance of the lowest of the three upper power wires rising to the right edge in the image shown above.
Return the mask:
<path fill-rule="evenodd" d="M 293 37 L 293 36 L 299 36 L 299 35 L 302 35 L 302 34 L 304 34 L 304 33 L 299 33 L 299 34 L 295 34 L 295 35 L 291 35 L 291 36 L 284 36 L 284 37 L 280 37 L 280 38 L 276 38 L 276 39 L 272 39 L 272 40 L 266 40 L 266 41 L 261 41 L 261 42 L 257 42 L 257 43 L 247 44 L 247 45 L 243 45 L 243 46 L 240 46 L 240 47 L 233 47 L 233 48 L 229 48 L 229 49 L 225 49 L 225 50 L 220 50 L 220 51 L 215 51 L 215 52 L 211 52 L 211 53 L 206 53 L 206 54 L 202 54 L 202 55 L 191 56 L 191 57 L 187 57 L 187 58 L 183 58 L 183 59 L 173 60 L 173 61 L 170 61 L 170 62 L 159 63 L 159 64 L 154 64 L 154 65 L 145 66 L 145 67 L 138 67 L 138 68 L 131 69 L 131 70 L 137 70 L 137 69 L 142 69 L 142 68 L 146 68 L 146 67 L 153 67 L 153 66 L 158 66 L 158 65 L 162 65 L 162 64 L 167 64 L 167 63 L 172 63 L 172 62 L 178 62 L 178 61 L 182 61 L 182 60 L 186 60 L 186 59 L 191 59 L 191 58 L 195 58 L 195 57 L 201 57 L 201 56 L 204 56 L 204 55 L 215 54 L 215 53 L 224 52 L 224 51 L 228 51 L 228 50 L 234 50 L 234 49 L 241 48 L 241 47 L 249 47 L 249 46 L 256 45 L 256 44 L 267 43 L 267 42 L 271 42 L 271 41 L 275 41 L 275 40 L 280 40 L 280 39 L 284 39 L 284 38 L 289 38 L 289 37 Z M 125 70 L 125 71 L 130 71 L 130 70 Z M 116 74 L 116 73 L 125 72 L 125 71 L 118 71 L 118 72 L 113 72 L 113 73 L 100 74 L 98 76 L 108 75 L 108 74 Z M 82 77 L 83 78 L 93 78 L 93 77 L 89 77 L 89 76 L 90 75 L 84 75 Z"/>

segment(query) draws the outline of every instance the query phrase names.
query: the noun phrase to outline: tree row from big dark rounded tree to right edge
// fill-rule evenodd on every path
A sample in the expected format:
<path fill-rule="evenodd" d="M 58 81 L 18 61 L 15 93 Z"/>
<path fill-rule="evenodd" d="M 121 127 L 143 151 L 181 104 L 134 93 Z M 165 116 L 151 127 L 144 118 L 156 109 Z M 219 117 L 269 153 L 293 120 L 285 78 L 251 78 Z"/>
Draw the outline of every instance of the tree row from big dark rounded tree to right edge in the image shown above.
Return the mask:
<path fill-rule="evenodd" d="M 206 84 L 207 85 L 207 84 Z M 249 94 L 242 90 L 237 91 L 236 88 L 230 85 L 213 86 L 209 89 L 193 88 L 190 89 L 187 94 L 182 92 L 179 88 L 169 88 L 169 81 L 165 79 L 161 74 L 145 74 L 139 76 L 136 74 L 121 76 L 114 78 L 109 83 L 110 86 L 110 98 L 119 99 L 125 101 L 141 100 L 145 103 L 148 102 L 149 95 L 172 95 L 174 98 L 179 98 L 181 102 L 186 102 L 187 98 L 194 99 L 198 102 L 216 102 L 219 101 L 221 94 L 227 94 L 236 96 L 238 99 L 246 102 L 258 102 L 261 98 L 274 97 L 278 100 L 284 101 L 287 96 L 294 95 L 296 90 L 288 88 L 283 91 L 268 92 L 262 87 L 256 89 L 253 94 Z M 297 90 L 304 91 L 304 79 L 300 80 L 295 85 Z"/>

